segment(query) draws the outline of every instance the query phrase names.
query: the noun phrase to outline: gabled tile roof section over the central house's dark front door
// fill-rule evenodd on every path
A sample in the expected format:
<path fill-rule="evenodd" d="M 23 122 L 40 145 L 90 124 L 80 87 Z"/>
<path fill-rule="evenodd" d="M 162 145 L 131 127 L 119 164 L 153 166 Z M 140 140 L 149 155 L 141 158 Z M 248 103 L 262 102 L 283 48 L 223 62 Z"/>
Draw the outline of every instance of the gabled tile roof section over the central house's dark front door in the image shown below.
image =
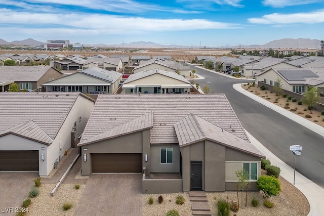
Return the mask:
<path fill-rule="evenodd" d="M 242 140 L 195 114 L 191 113 L 187 115 L 175 123 L 174 127 L 180 147 L 199 141 L 210 140 L 233 149 L 264 157 L 253 144 Z"/>

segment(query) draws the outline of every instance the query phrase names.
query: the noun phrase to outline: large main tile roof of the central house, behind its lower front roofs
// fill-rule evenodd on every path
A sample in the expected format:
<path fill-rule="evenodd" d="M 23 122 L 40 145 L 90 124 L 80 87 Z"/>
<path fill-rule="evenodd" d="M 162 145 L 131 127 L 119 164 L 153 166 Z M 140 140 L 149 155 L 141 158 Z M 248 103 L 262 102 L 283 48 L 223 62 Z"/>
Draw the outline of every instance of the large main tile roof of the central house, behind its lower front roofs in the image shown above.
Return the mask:
<path fill-rule="evenodd" d="M 81 142 L 148 112 L 153 112 L 152 144 L 178 143 L 173 125 L 190 113 L 249 141 L 224 94 L 100 94 Z"/>

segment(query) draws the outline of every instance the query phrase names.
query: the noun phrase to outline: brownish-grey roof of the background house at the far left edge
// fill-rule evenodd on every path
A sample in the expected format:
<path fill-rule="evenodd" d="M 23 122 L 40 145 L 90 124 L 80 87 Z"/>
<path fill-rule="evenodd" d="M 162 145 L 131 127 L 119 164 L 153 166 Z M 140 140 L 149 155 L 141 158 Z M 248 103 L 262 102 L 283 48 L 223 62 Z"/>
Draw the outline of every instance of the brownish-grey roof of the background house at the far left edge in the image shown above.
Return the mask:
<path fill-rule="evenodd" d="M 0 81 L 38 81 L 51 66 L 0 66 Z"/>

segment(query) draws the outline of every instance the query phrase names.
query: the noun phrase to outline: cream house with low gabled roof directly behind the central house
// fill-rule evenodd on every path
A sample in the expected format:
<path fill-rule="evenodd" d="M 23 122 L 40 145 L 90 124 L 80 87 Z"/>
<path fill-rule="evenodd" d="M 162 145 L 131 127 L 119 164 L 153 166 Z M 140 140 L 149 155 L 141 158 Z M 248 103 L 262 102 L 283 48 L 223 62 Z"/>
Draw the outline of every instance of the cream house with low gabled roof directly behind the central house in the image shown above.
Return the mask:
<path fill-rule="evenodd" d="M 130 75 L 121 88 L 126 94 L 170 94 L 189 93 L 192 85 L 175 72 L 152 69 Z"/>

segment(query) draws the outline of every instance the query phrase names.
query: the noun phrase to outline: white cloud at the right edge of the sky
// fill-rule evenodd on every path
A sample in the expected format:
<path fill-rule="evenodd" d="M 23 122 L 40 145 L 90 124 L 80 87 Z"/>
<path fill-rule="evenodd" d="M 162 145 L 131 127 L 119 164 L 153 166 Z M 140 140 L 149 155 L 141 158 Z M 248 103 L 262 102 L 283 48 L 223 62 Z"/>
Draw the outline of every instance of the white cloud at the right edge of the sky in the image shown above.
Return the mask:
<path fill-rule="evenodd" d="M 324 11 L 296 14 L 268 14 L 261 18 L 250 18 L 250 23 L 256 24 L 291 24 L 291 23 L 322 23 Z"/>

